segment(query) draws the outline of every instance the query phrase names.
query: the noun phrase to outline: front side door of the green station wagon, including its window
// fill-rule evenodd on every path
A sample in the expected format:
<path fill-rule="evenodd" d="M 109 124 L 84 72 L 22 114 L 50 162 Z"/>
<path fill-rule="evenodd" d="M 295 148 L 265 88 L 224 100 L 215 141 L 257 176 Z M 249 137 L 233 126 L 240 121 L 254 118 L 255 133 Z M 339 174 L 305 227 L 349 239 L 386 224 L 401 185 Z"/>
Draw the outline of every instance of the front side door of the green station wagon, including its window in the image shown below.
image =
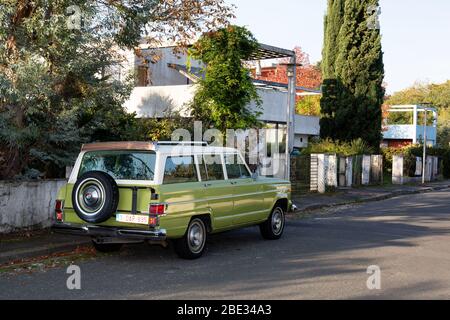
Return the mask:
<path fill-rule="evenodd" d="M 251 176 L 240 154 L 226 154 L 225 167 L 233 192 L 233 224 L 244 225 L 264 218 L 262 186 Z"/>

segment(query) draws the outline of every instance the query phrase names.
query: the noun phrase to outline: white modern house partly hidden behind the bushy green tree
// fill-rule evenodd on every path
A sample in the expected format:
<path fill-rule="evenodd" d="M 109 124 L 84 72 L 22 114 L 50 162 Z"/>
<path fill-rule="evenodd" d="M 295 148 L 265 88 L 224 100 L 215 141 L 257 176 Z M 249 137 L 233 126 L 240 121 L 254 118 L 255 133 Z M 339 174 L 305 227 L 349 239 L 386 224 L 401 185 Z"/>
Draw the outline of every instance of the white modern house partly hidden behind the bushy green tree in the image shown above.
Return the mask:
<path fill-rule="evenodd" d="M 195 93 L 195 83 L 202 76 L 202 63 L 189 61 L 185 53 L 174 53 L 175 47 L 141 48 L 142 57 L 134 56 L 132 65 L 137 73 L 136 87 L 125 103 L 129 112 L 136 112 L 140 118 L 164 118 L 168 113 L 177 112 L 189 117 L 186 107 Z M 255 60 L 293 56 L 294 52 L 271 46 L 261 45 Z M 288 118 L 288 88 L 286 85 L 255 81 L 262 100 L 260 120 L 269 130 L 265 134 L 267 144 L 278 146 L 286 142 L 286 124 Z M 255 108 L 252 104 L 251 108 Z M 291 136 L 289 149 L 303 148 L 311 137 L 320 134 L 319 117 L 294 114 L 294 105 L 290 105 Z M 284 147 L 282 147 L 283 149 Z M 265 155 L 266 156 L 266 155 Z M 272 157 L 272 155 L 269 155 Z M 278 155 L 281 169 L 267 175 L 284 176 L 289 166 L 283 154 Z M 274 160 L 274 159 L 272 159 Z M 275 160 L 274 160 L 275 161 Z M 284 163 L 284 165 L 282 165 Z"/>

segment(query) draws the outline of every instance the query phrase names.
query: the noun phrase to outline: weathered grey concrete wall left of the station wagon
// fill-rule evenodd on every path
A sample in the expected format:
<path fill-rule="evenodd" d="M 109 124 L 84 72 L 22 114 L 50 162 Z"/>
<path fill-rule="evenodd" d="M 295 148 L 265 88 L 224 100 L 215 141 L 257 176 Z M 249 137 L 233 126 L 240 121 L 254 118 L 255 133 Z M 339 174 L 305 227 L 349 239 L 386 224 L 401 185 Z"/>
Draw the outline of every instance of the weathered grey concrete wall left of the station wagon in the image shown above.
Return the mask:
<path fill-rule="evenodd" d="M 0 234 L 51 225 L 65 180 L 0 181 Z"/>

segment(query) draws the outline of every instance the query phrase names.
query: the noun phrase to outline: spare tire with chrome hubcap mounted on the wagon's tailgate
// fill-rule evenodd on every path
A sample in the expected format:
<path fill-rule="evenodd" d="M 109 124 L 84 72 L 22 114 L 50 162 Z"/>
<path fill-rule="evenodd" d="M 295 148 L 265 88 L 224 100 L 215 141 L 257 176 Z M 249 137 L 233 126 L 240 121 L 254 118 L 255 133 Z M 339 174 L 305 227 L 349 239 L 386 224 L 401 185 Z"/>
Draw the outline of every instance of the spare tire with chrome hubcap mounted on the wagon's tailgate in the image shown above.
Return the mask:
<path fill-rule="evenodd" d="M 119 188 L 116 181 L 105 172 L 86 172 L 73 187 L 72 204 L 83 221 L 105 222 L 117 211 Z"/>

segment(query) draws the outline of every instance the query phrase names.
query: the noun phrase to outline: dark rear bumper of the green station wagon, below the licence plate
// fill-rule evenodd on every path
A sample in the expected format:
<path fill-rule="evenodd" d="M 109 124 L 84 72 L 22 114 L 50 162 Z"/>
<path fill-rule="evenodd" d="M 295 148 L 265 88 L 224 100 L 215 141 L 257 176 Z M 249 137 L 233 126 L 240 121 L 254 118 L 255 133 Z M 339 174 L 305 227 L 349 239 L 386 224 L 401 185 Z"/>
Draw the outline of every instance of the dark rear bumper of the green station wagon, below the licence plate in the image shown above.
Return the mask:
<path fill-rule="evenodd" d="M 68 223 L 55 223 L 52 225 L 52 230 L 57 233 L 85 235 L 91 237 L 122 238 L 122 239 L 150 240 L 150 241 L 165 241 L 167 239 L 167 232 L 164 229 L 152 231 L 141 229 L 108 228 L 92 225 L 73 225 Z"/>

